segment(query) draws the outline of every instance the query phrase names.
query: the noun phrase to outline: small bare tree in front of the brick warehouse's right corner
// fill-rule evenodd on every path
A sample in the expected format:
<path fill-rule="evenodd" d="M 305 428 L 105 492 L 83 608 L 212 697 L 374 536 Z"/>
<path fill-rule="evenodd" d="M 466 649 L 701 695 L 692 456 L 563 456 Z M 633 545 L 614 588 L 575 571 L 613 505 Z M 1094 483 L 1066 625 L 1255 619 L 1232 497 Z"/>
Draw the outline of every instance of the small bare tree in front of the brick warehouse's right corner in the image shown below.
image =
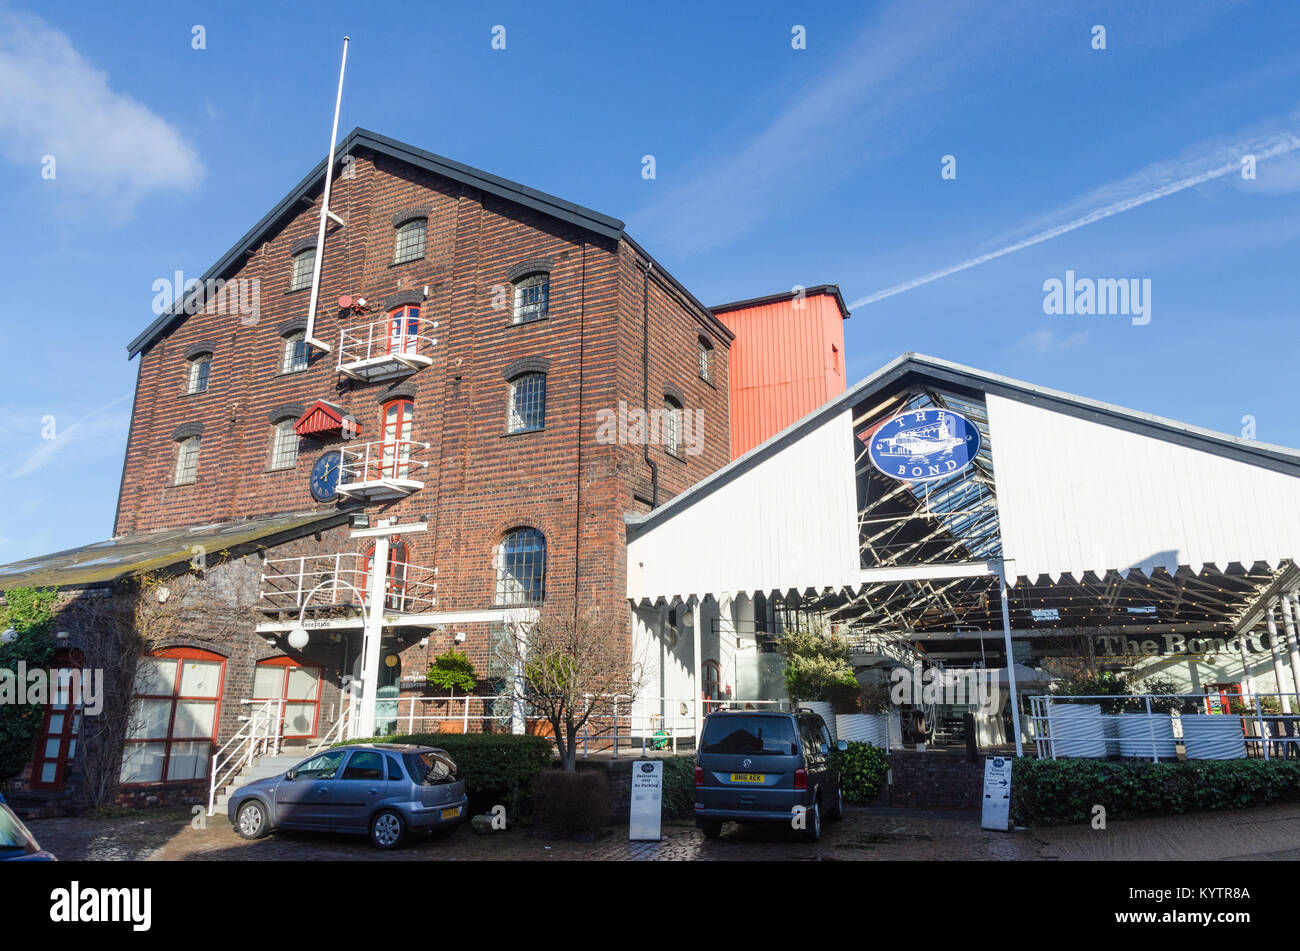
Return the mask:
<path fill-rule="evenodd" d="M 566 770 L 575 768 L 578 734 L 604 733 L 628 716 L 641 683 L 627 634 L 599 611 L 516 625 L 498 652 L 516 672 L 520 699 L 550 722 Z"/>

